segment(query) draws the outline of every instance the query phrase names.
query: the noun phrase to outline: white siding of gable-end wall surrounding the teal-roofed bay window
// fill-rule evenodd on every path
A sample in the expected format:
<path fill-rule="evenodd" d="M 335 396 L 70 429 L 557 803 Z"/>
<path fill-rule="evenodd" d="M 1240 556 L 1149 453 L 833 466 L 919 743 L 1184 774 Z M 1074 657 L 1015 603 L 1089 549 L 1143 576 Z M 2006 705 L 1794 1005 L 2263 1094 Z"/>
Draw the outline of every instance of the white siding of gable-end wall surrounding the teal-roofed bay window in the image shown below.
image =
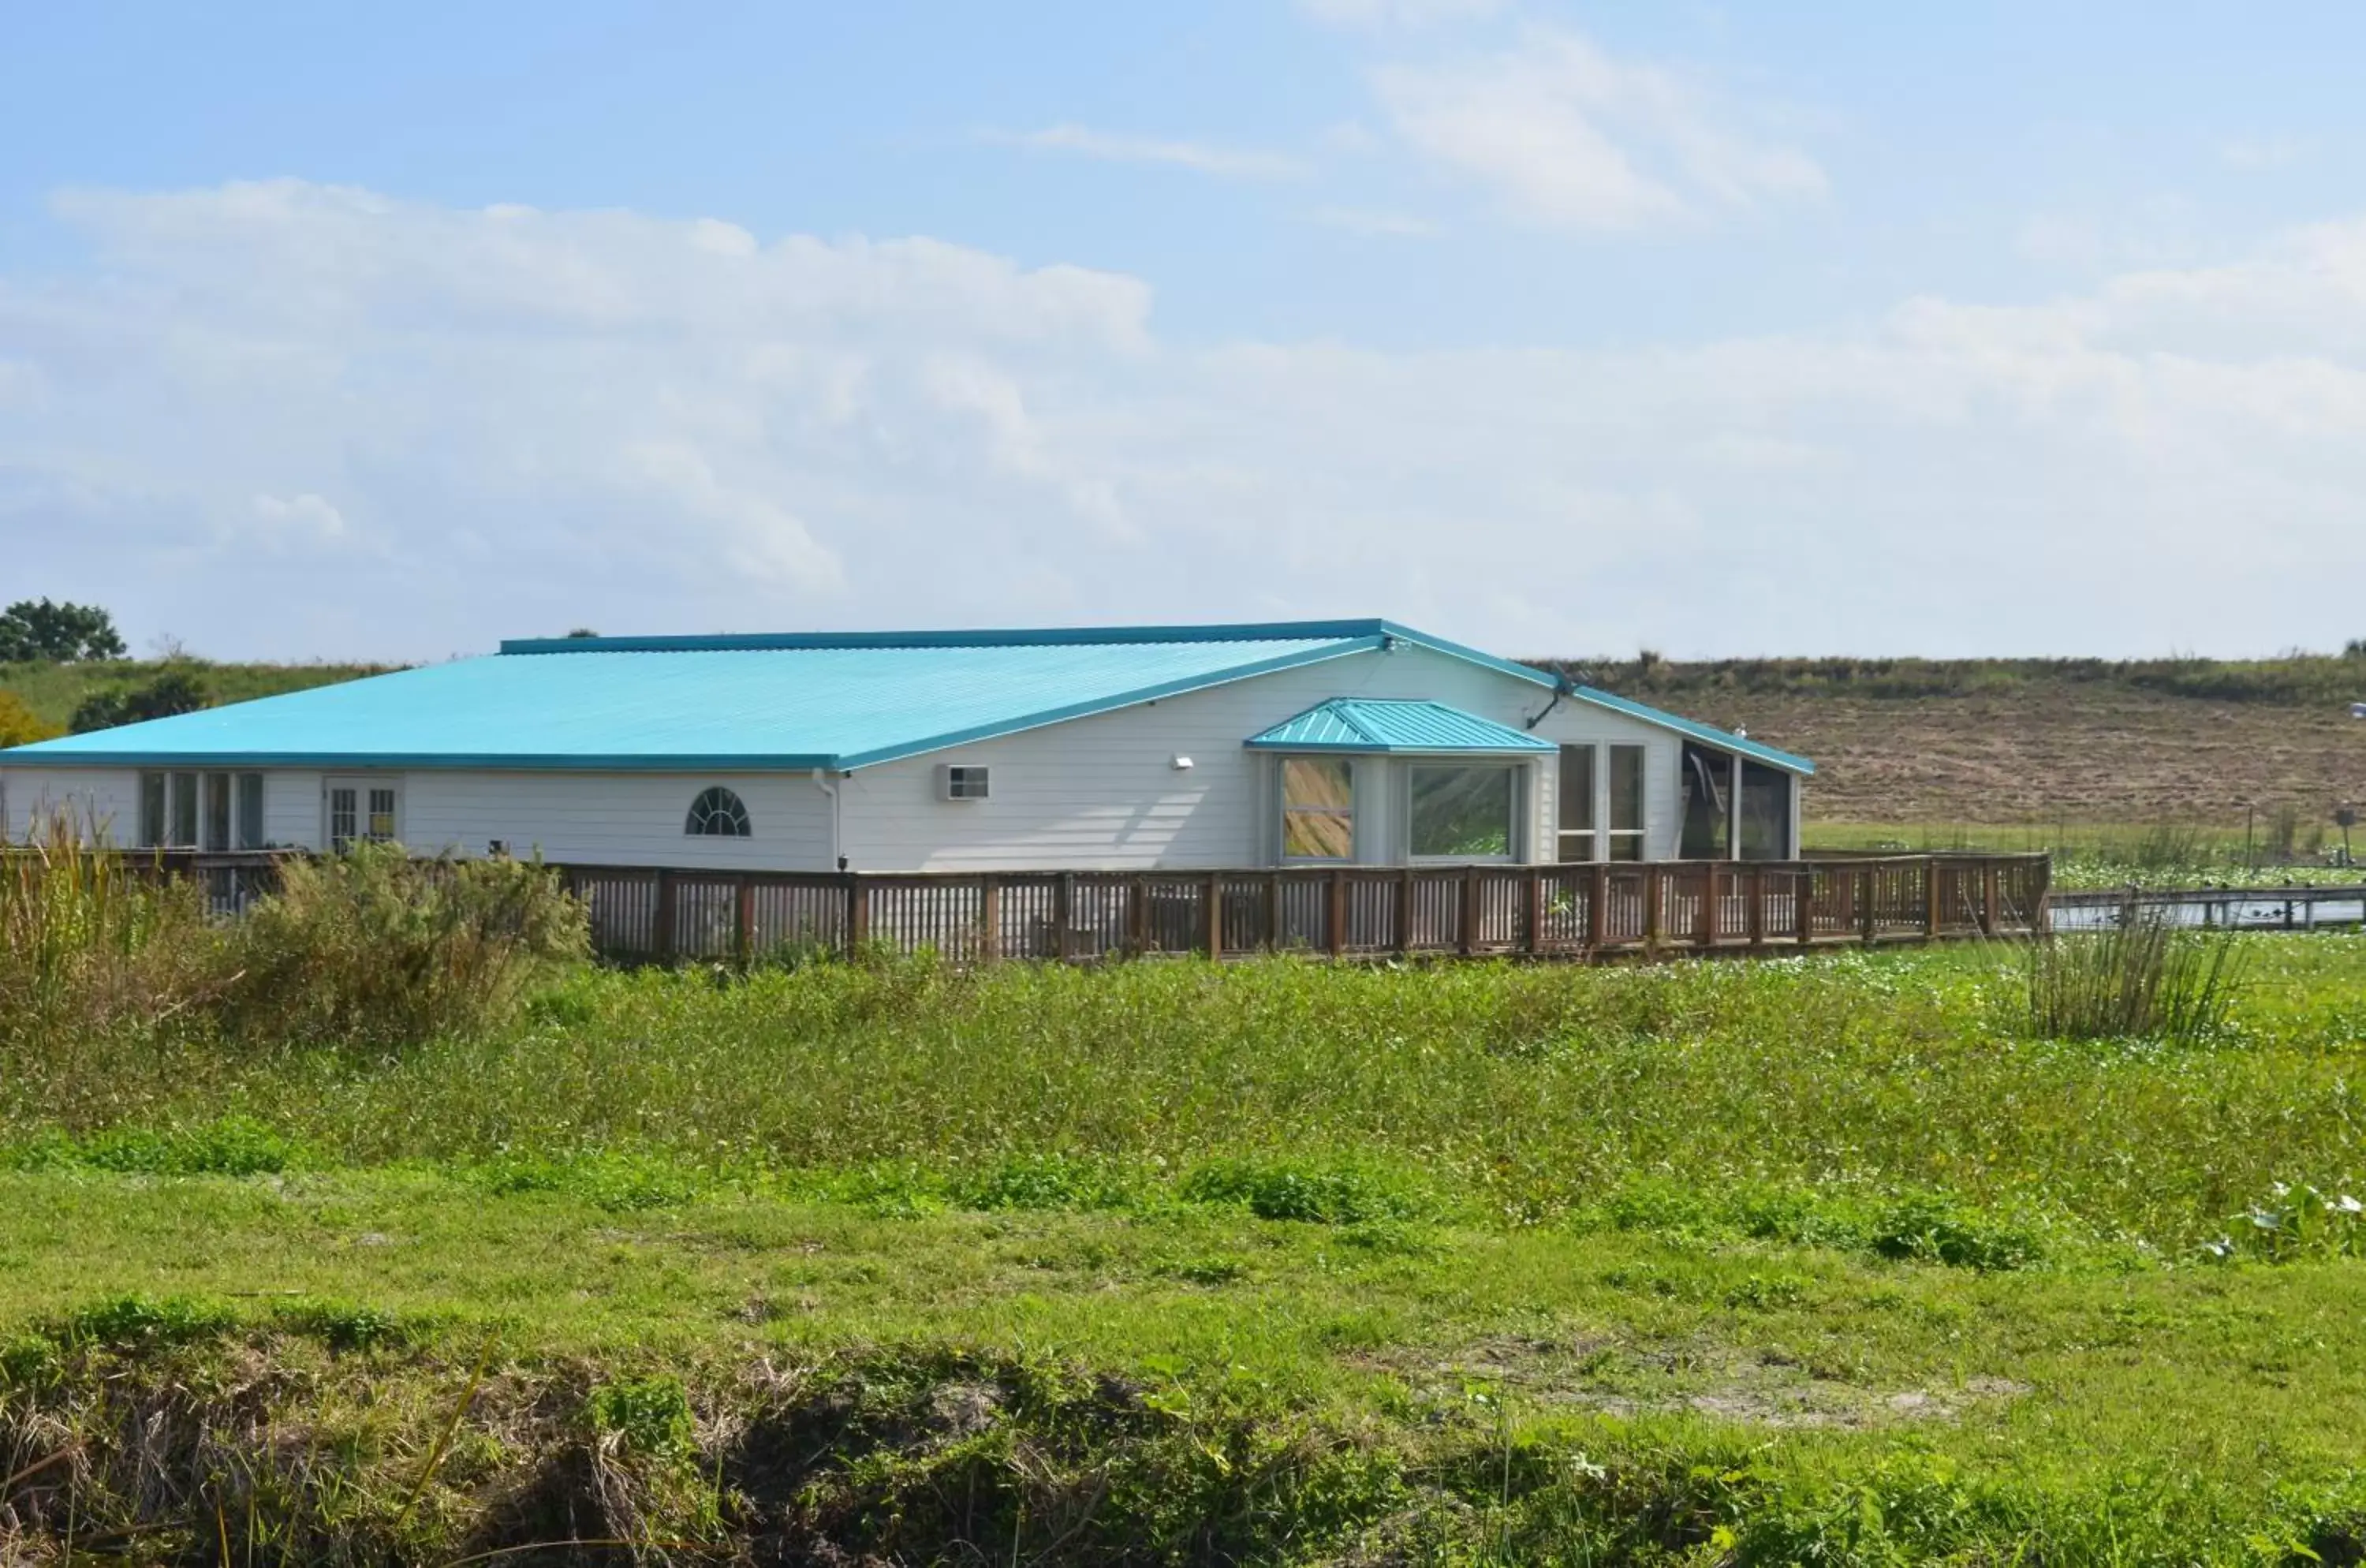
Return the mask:
<path fill-rule="evenodd" d="M 1360 653 L 1209 691 L 1053 724 L 1022 736 L 861 769 L 845 788 L 845 854 L 856 870 L 1143 870 L 1261 866 L 1271 858 L 1271 757 L 1242 740 L 1325 698 L 1429 698 L 1524 726 L 1543 686 L 1420 648 Z M 1647 747 L 1651 856 L 1673 856 L 1680 743 L 1668 731 L 1564 700 L 1536 736 L 1554 745 Z M 1176 771 L 1185 754 L 1192 769 Z M 991 769 L 991 799 L 937 799 L 942 764 Z M 1554 851 L 1554 764 L 1531 771 L 1526 849 Z M 1375 778 L 1382 783 L 1382 778 Z M 1394 842 L 1391 788 L 1358 785 L 1358 840 Z M 1372 858 L 1379 858 L 1377 854 Z"/>

